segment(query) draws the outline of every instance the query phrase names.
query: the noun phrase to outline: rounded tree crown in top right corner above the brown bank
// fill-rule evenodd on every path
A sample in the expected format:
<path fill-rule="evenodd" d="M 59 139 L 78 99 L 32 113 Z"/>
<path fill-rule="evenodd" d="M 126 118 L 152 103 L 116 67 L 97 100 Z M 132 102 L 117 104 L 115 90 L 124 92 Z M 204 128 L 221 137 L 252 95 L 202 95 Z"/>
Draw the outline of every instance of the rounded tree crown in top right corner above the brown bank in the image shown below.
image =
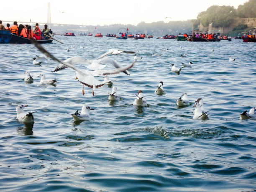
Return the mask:
<path fill-rule="evenodd" d="M 256 17 L 256 0 L 249 0 L 237 8 L 237 15 L 240 18 L 254 18 Z"/>

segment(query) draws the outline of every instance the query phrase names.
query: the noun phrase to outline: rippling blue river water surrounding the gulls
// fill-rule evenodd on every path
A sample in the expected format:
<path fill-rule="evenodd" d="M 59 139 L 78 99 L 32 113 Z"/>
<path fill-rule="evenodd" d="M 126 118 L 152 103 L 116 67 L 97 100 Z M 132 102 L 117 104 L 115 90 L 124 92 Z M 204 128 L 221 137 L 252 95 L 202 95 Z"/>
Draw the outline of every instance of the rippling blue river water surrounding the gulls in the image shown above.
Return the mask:
<path fill-rule="evenodd" d="M 256 44 L 58 37 L 64 44 L 43 46 L 61 60 L 96 59 L 112 48 L 138 50 L 143 59 L 130 76 L 110 76 L 121 100 L 109 102 L 112 87 L 96 89 L 94 97 L 86 87 L 83 96 L 72 69 L 51 73 L 51 59 L 32 64 L 41 55 L 33 45 L 0 44 L 1 191 L 256 190 L 256 121 L 239 119 L 256 105 Z M 123 65 L 134 61 L 131 54 L 110 57 Z M 170 64 L 189 61 L 192 68 L 171 72 Z M 27 70 L 32 84 L 23 80 Z M 56 86 L 39 84 L 41 73 L 57 79 Z M 159 81 L 166 95 L 154 94 Z M 138 90 L 147 108 L 132 105 Z M 191 105 L 179 108 L 183 92 Z M 210 110 L 207 120 L 192 119 L 198 98 Z M 36 111 L 33 125 L 16 120 L 18 104 Z M 74 123 L 70 113 L 84 104 L 95 109 L 91 120 Z"/>

